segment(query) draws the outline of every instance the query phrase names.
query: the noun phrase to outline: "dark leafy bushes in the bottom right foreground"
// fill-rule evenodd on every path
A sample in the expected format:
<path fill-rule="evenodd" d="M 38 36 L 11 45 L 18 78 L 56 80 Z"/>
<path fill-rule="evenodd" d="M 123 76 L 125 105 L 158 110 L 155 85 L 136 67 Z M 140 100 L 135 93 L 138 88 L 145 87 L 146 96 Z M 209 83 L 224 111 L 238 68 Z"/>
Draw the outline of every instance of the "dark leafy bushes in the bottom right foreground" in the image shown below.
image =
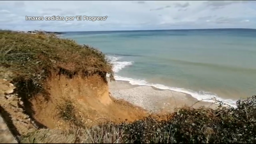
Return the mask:
<path fill-rule="evenodd" d="M 119 127 L 132 143 L 256 143 L 256 95 L 237 100 L 237 108 L 182 108 L 169 120 L 145 118 Z"/>

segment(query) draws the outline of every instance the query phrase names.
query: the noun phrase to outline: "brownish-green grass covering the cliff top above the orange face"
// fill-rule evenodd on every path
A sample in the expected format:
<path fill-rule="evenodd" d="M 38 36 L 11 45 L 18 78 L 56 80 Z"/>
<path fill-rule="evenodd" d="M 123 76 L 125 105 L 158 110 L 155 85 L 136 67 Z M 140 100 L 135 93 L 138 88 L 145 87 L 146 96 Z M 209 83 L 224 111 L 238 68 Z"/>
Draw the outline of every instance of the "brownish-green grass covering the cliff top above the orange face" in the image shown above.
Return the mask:
<path fill-rule="evenodd" d="M 33 81 L 37 87 L 44 85 L 52 74 L 68 77 L 82 74 L 100 74 L 113 77 L 112 65 L 106 56 L 88 45 L 78 45 L 74 40 L 61 39 L 55 35 L 14 31 L 0 31 L 0 69 L 12 75 L 14 81 Z M 3 74 L 1 74 L 3 75 Z"/>

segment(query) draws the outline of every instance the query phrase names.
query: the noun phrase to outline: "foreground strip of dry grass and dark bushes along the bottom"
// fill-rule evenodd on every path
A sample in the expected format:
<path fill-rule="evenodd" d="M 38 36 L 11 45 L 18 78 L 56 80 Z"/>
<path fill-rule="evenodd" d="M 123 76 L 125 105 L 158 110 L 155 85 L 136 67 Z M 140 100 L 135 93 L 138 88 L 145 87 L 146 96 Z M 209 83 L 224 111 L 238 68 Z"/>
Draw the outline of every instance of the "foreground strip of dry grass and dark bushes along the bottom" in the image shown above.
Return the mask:
<path fill-rule="evenodd" d="M 237 108 L 180 108 L 166 120 L 148 116 L 132 123 L 106 122 L 90 129 L 58 133 L 66 143 L 256 143 L 255 113 L 256 95 L 237 100 Z M 40 129 L 20 140 L 61 143 L 63 139 L 53 140 L 59 137 L 54 131 Z"/>

